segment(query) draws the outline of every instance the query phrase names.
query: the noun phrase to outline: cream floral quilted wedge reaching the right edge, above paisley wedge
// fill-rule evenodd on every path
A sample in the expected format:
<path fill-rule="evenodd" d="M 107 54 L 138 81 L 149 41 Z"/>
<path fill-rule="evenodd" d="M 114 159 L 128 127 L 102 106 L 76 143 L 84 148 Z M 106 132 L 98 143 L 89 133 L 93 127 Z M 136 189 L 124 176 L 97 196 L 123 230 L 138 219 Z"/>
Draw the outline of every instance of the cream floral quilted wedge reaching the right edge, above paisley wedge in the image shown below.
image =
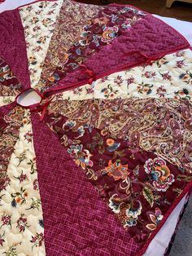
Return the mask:
<path fill-rule="evenodd" d="M 57 95 L 58 98 L 114 99 L 114 98 L 175 98 L 192 97 L 192 51 L 178 51 L 155 61 L 113 73 L 93 82 Z"/>

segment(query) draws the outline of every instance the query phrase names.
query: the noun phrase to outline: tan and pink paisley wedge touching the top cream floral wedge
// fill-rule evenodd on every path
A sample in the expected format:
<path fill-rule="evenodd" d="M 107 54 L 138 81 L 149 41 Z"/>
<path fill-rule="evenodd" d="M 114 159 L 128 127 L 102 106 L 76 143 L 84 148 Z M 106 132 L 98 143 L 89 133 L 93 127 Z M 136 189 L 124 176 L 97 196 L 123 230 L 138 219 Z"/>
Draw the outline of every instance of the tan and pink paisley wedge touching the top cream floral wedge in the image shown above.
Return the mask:
<path fill-rule="evenodd" d="M 68 0 L 63 2 L 42 66 L 41 79 L 36 86 L 38 89 L 46 86 L 47 77 L 49 82 L 55 82 L 59 79 L 58 74 L 54 75 L 55 69 L 62 69 L 62 66 L 68 62 L 69 50 L 76 45 L 76 40 L 81 40 L 83 45 L 83 38 L 87 39 L 88 37 L 88 35 L 85 35 L 85 27 L 91 24 L 93 16 L 98 15 L 98 11 L 102 10 L 103 7 L 89 5 L 88 8 L 87 5 L 82 3 L 77 5 Z"/>

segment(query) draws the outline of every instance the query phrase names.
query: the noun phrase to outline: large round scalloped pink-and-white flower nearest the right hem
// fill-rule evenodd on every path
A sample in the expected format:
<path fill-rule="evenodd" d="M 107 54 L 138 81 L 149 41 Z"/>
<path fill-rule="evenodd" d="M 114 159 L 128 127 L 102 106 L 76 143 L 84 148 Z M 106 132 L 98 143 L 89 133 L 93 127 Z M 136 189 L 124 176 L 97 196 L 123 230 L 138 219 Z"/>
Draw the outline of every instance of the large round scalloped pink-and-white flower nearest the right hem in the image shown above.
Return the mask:
<path fill-rule="evenodd" d="M 150 174 L 150 179 L 157 191 L 167 191 L 169 185 L 175 181 L 174 175 L 170 174 L 166 161 L 160 157 L 147 160 L 144 168 L 146 173 Z"/>

